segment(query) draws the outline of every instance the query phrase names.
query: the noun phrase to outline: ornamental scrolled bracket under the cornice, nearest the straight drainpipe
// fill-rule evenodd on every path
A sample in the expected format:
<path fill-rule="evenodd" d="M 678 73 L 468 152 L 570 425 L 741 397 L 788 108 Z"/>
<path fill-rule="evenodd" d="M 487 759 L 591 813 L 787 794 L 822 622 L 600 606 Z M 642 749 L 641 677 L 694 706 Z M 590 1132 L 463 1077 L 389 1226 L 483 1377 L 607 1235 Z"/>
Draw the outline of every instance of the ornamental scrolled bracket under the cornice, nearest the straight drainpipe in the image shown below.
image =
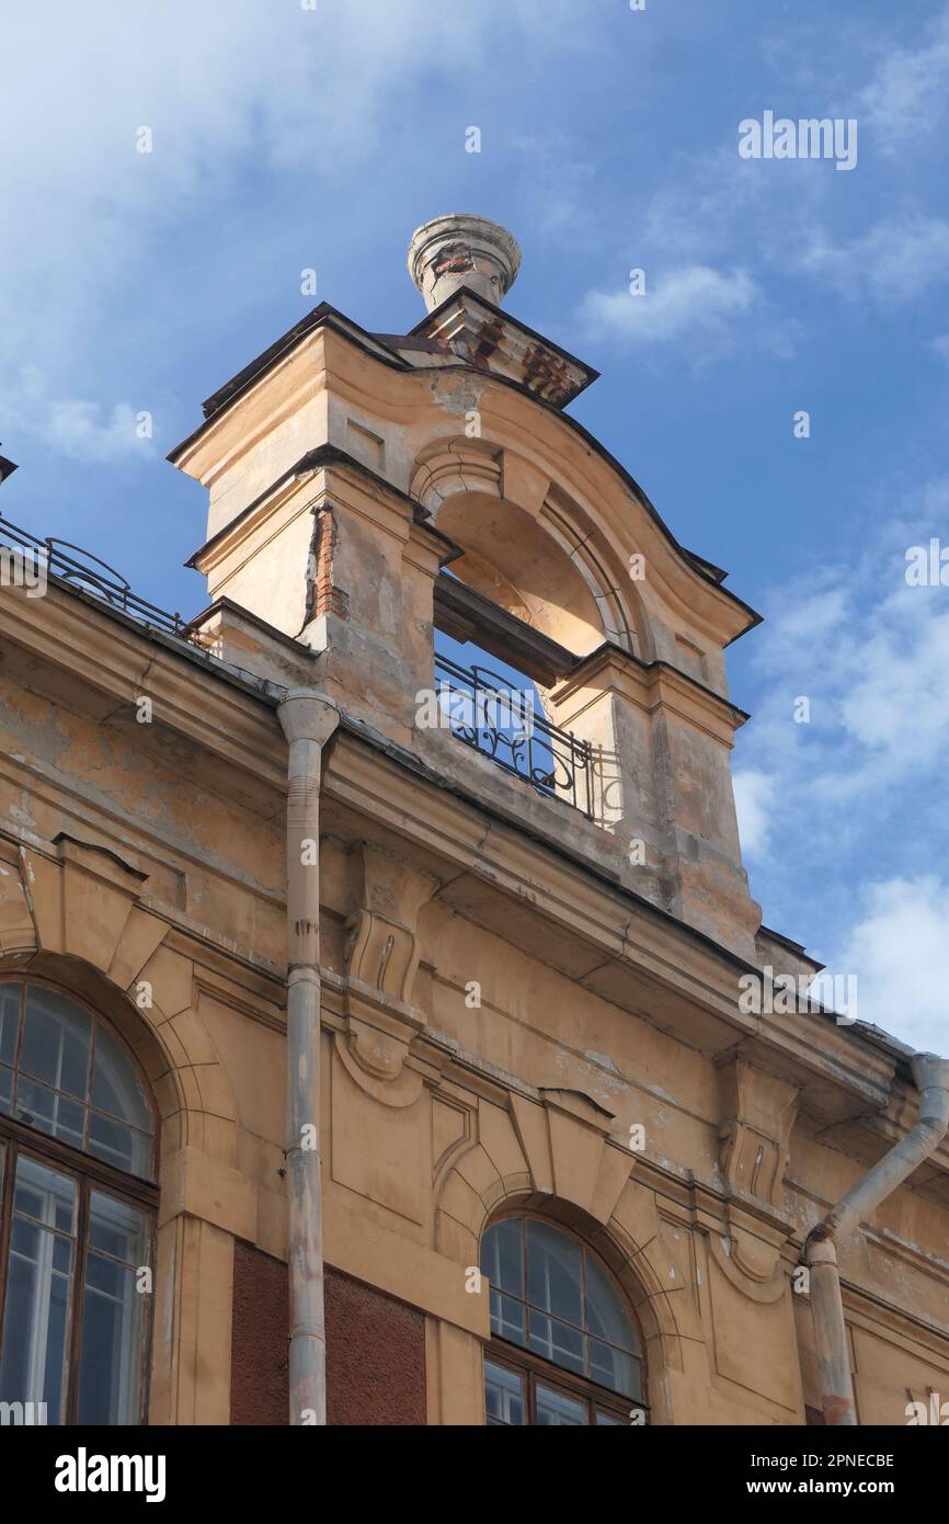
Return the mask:
<path fill-rule="evenodd" d="M 411 1004 L 419 968 L 417 924 L 439 884 L 381 847 L 361 843 L 361 905 L 347 930 L 344 1033 L 337 1039 L 350 1077 L 388 1106 L 408 1106 L 422 1074 L 405 1067 L 427 1020 Z"/>

